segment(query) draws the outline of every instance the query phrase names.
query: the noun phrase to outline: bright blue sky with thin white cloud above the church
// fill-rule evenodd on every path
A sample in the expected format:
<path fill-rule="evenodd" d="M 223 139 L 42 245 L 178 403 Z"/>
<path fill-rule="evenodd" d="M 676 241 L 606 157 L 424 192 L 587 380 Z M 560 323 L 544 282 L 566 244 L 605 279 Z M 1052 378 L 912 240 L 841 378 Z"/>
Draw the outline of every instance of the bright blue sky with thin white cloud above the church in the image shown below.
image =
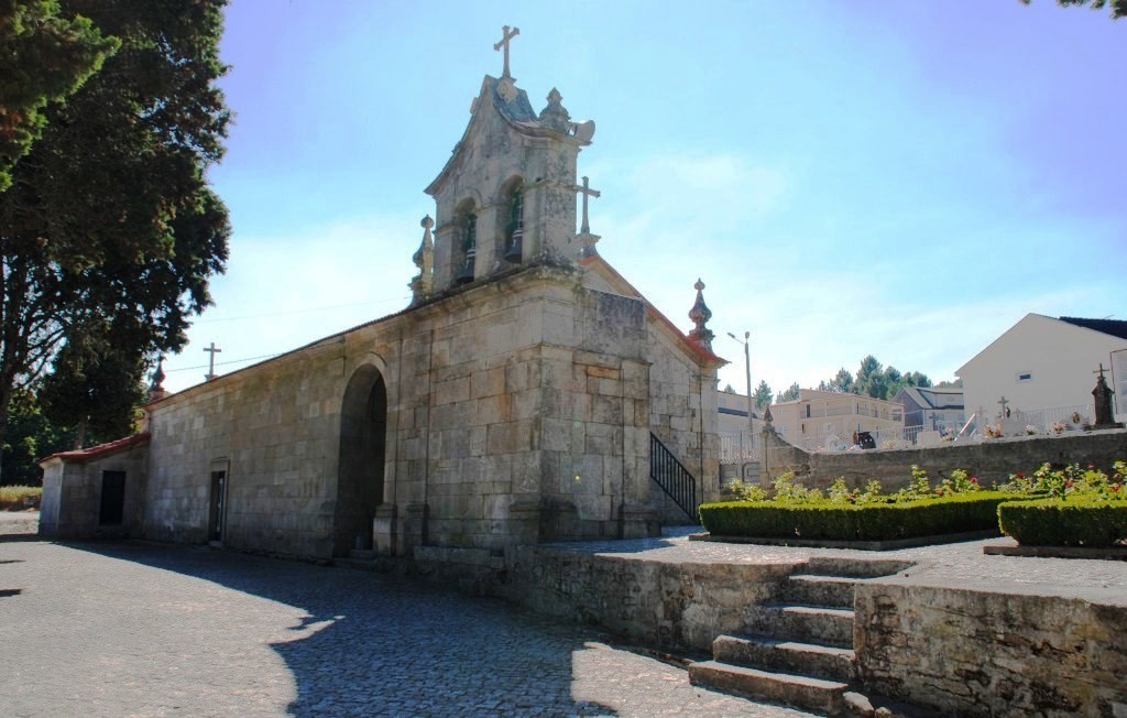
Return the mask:
<path fill-rule="evenodd" d="M 499 76 L 594 119 L 602 255 L 721 385 L 815 385 L 875 354 L 951 379 L 1028 312 L 1127 319 L 1127 21 L 1047 0 L 233 0 L 236 122 L 211 179 L 228 274 L 169 389 L 398 311 L 423 188 Z M 228 363 L 231 362 L 231 363 Z"/>

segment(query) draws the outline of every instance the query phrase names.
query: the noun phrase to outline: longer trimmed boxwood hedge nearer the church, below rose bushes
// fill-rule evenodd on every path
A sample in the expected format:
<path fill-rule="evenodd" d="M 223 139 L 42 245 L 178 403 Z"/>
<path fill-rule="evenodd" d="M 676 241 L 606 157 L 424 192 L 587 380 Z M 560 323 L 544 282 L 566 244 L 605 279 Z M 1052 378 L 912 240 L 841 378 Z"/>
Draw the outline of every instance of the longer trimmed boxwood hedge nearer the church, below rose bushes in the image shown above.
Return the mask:
<path fill-rule="evenodd" d="M 997 529 L 997 507 L 1021 500 L 1004 491 L 976 491 L 904 504 L 778 504 L 721 502 L 701 506 L 716 535 L 825 541 L 888 541 Z"/>

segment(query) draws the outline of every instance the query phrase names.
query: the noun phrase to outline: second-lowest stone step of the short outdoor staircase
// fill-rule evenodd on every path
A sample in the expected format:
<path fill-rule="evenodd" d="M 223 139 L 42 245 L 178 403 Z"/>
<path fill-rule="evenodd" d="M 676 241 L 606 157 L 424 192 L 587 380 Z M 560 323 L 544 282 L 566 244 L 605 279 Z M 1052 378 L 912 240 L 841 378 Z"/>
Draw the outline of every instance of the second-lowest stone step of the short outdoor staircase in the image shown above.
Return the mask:
<path fill-rule="evenodd" d="M 852 681 L 857 675 L 857 654 L 850 648 L 778 638 L 719 636 L 712 641 L 712 658 L 749 668 L 786 671 L 835 681 Z"/>

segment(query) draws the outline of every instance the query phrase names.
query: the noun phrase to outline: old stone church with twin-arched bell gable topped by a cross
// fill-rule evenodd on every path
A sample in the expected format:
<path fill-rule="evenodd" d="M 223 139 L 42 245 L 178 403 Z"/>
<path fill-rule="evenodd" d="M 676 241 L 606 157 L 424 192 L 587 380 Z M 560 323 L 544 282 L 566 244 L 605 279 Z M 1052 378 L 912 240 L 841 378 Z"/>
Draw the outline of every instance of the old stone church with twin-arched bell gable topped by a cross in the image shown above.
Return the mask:
<path fill-rule="evenodd" d="M 330 558 L 695 523 L 725 363 L 703 284 L 685 335 L 598 255 L 594 123 L 556 89 L 533 109 L 515 34 L 426 188 L 410 307 L 179 393 L 156 380 L 141 433 L 43 460 L 44 535 Z"/>

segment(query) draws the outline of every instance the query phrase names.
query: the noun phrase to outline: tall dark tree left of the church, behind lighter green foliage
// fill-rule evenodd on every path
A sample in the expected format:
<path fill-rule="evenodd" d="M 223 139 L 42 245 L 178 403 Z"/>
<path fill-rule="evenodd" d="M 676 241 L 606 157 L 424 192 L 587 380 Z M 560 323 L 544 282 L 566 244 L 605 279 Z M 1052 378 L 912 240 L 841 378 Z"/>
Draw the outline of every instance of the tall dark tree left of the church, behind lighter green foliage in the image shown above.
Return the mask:
<path fill-rule="evenodd" d="M 210 303 L 230 234 L 205 179 L 230 119 L 215 85 L 227 70 L 223 5 L 60 2 L 63 17 L 88 17 L 122 44 L 79 91 L 47 107 L 42 139 L 0 194 L 0 441 L 12 392 L 62 346 L 110 327 L 98 339 L 121 357 L 176 351 Z M 136 383 L 122 381 L 123 392 Z"/>

